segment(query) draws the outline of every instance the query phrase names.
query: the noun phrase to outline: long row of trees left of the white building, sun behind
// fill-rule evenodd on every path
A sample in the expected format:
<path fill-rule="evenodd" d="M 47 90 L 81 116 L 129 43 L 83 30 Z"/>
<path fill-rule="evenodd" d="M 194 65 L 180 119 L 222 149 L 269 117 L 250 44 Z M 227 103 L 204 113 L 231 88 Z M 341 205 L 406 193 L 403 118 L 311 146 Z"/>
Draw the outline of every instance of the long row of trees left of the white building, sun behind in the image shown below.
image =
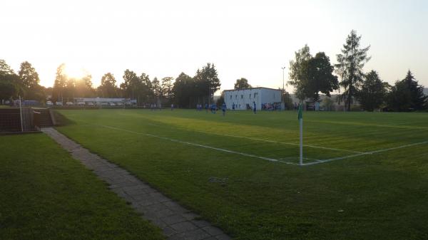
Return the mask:
<path fill-rule="evenodd" d="M 146 73 L 137 75 L 126 69 L 123 83 L 118 85 L 112 73 L 101 77 L 101 84 L 94 88 L 92 76 L 86 73 L 82 78 L 71 78 L 65 73 L 65 64 L 56 69 L 53 88 L 41 85 L 39 74 L 31 63 L 21 63 L 19 73 L 0 59 L 0 100 L 73 101 L 74 98 L 131 98 L 138 105 L 156 103 L 170 105 L 174 103 L 183 108 L 193 108 L 196 104 L 211 103 L 215 92 L 220 89 L 220 79 L 213 63 L 207 63 L 198 69 L 193 77 L 180 73 L 177 78 L 165 77 L 151 79 Z M 174 80 L 174 81 L 173 81 Z M 51 95 L 51 98 L 47 98 Z"/>

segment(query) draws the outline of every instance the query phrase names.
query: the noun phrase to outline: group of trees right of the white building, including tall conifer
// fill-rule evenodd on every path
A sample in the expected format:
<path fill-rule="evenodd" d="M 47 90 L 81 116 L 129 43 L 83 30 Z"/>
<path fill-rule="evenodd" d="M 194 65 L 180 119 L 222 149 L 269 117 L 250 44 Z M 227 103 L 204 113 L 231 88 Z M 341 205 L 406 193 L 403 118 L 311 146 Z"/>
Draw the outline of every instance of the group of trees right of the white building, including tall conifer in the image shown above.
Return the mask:
<path fill-rule="evenodd" d="M 381 80 L 377 71 L 362 71 L 371 57 L 367 56 L 370 46 L 361 47 L 360 40 L 361 36 L 352 30 L 341 53 L 337 54 L 337 64 L 334 66 L 323 52 L 312 56 L 307 45 L 296 51 L 295 58 L 290 61 L 288 83 L 294 86 L 297 98 L 319 102 L 320 93 L 330 98 L 333 90 L 343 90 L 337 100 L 345 103 L 348 111 L 355 100 L 367 111 L 379 108 L 392 111 L 427 110 L 428 97 L 410 70 L 404 79 L 397 80 L 394 85 Z M 331 103 L 331 100 L 327 98 L 327 102 Z"/>

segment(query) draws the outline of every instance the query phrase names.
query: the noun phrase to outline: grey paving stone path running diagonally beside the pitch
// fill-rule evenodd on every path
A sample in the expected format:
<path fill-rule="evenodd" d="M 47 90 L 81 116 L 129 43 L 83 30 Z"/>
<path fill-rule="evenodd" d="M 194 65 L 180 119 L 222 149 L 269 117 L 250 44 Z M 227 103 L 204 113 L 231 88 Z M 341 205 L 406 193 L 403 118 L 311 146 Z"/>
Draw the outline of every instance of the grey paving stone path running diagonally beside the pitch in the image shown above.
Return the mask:
<path fill-rule="evenodd" d="M 89 152 L 53 127 L 42 128 L 41 131 L 71 152 L 88 169 L 92 169 L 100 179 L 108 182 L 111 191 L 130 202 L 136 212 L 143 214 L 143 219 L 159 226 L 168 239 L 231 239 L 208 221 L 199 220 L 197 214 L 168 199 L 125 169 Z"/>

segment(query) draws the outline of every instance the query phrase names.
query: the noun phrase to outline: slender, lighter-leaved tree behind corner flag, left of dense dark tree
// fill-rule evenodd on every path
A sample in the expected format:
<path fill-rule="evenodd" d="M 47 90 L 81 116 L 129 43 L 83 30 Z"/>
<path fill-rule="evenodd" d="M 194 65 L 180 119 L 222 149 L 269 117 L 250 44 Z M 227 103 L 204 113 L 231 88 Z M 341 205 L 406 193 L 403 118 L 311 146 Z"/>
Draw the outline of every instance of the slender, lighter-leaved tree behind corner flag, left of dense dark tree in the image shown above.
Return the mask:
<path fill-rule="evenodd" d="M 305 100 L 302 83 L 306 78 L 305 64 L 310 60 L 310 58 L 312 58 L 312 56 L 310 55 L 309 46 L 305 44 L 302 49 L 295 52 L 295 59 L 290 61 L 290 81 L 288 81 L 288 83 L 294 86 L 295 95 L 300 101 Z"/>

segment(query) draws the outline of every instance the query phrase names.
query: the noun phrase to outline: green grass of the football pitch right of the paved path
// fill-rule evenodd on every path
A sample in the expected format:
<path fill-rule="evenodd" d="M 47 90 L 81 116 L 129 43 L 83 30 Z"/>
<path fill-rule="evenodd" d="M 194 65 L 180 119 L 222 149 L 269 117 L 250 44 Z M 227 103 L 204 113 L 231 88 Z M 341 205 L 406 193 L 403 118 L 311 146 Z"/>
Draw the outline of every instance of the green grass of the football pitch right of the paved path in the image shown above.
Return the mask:
<path fill-rule="evenodd" d="M 236 239 L 428 239 L 428 144 L 300 167 L 183 144 L 297 163 L 295 112 L 61 113 L 74 123 L 58 130 Z M 425 113 L 304 113 L 304 122 L 306 163 L 428 141 Z"/>

